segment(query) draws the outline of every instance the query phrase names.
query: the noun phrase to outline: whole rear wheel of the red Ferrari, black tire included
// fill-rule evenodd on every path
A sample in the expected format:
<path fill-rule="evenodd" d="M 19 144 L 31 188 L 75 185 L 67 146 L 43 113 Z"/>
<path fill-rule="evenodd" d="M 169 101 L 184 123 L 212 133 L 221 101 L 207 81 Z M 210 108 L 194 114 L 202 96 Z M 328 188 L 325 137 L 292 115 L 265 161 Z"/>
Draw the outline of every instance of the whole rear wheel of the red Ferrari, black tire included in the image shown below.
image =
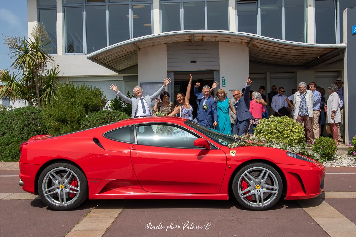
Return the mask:
<path fill-rule="evenodd" d="M 43 203 L 58 211 L 72 210 L 88 198 L 88 181 L 77 167 L 64 162 L 45 168 L 37 183 Z"/>

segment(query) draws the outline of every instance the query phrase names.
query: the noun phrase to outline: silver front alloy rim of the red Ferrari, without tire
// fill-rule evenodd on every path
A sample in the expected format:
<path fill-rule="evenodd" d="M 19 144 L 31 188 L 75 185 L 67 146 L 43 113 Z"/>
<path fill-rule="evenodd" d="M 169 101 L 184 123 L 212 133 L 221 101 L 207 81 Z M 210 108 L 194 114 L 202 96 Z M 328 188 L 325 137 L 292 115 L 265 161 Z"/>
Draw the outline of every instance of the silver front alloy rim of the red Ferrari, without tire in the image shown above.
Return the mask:
<path fill-rule="evenodd" d="M 243 190 L 242 187 L 247 187 Z M 278 181 L 273 172 L 263 167 L 247 169 L 239 178 L 237 190 L 240 198 L 249 206 L 262 208 L 272 203 L 278 193 Z"/>

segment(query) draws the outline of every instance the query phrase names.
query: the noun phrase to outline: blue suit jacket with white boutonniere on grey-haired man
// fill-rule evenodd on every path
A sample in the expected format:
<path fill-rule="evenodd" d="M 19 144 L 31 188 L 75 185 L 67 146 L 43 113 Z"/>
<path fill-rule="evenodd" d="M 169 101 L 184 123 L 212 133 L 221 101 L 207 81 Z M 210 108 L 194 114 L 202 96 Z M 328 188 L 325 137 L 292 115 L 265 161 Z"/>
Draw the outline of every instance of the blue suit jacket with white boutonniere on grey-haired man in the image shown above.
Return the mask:
<path fill-rule="evenodd" d="M 216 101 L 213 97 L 209 96 L 206 100 L 206 104 L 208 105 L 208 109 L 204 110 L 201 108 L 203 106 L 203 101 L 201 101 L 204 96 L 203 92 L 198 92 L 198 87 L 194 86 L 194 95 L 197 96 L 197 104 L 198 104 L 198 113 L 197 119 L 199 120 L 206 120 L 210 124 L 211 128 L 213 128 L 214 121 L 218 122 L 218 114 L 216 113 Z"/>

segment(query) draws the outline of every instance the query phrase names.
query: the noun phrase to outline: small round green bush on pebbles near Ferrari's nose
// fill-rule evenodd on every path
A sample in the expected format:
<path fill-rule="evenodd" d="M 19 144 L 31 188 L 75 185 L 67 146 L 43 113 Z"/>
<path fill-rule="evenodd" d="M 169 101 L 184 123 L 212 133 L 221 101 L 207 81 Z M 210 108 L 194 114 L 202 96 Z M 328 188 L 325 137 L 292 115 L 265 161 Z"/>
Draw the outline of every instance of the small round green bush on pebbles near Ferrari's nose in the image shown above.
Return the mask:
<path fill-rule="evenodd" d="M 320 137 L 314 141 L 312 151 L 319 153 L 322 161 L 331 160 L 336 153 L 336 143 L 329 137 Z"/>

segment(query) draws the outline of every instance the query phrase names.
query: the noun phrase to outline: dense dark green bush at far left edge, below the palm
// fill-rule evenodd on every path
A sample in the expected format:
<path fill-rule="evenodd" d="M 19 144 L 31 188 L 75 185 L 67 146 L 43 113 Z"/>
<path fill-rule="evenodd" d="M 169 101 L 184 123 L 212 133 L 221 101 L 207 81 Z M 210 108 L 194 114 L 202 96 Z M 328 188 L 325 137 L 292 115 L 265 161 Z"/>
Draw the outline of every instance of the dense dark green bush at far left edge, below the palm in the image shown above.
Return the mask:
<path fill-rule="evenodd" d="M 21 142 L 39 134 L 47 134 L 42 109 L 33 106 L 16 109 L 0 107 L 1 161 L 18 161 Z"/>

